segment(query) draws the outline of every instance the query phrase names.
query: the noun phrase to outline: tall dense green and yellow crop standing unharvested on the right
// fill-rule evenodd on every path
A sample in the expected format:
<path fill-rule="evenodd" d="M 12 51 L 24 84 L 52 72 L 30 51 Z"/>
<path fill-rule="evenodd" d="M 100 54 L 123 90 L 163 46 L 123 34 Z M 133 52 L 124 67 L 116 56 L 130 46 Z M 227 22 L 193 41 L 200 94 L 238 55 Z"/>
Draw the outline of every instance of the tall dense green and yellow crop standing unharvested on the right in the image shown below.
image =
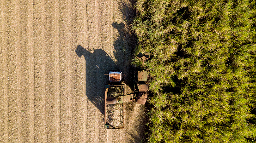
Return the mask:
<path fill-rule="evenodd" d="M 149 142 L 256 142 L 255 1 L 137 0 L 136 10 L 137 51 L 152 55 Z"/>

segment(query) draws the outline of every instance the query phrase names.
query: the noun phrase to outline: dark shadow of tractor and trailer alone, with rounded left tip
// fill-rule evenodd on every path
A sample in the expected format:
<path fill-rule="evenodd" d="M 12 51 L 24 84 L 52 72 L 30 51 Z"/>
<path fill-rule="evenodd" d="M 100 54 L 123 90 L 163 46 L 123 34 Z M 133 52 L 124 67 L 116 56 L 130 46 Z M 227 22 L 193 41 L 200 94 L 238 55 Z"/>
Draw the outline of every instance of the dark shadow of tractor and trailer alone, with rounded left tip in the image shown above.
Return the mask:
<path fill-rule="evenodd" d="M 86 62 L 85 94 L 88 100 L 104 114 L 104 84 L 110 69 L 116 69 L 116 63 L 102 49 L 86 50 L 83 46 L 77 46 L 75 50 L 78 57 L 84 56 Z"/>

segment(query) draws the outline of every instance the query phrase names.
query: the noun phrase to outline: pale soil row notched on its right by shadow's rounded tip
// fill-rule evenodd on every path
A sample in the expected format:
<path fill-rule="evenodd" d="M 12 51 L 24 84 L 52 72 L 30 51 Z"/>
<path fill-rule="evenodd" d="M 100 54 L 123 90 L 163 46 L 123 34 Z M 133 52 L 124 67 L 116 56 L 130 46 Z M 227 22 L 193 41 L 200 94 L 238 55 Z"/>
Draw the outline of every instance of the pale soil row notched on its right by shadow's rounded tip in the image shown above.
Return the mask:
<path fill-rule="evenodd" d="M 70 56 L 71 56 L 71 142 L 72 143 L 84 143 L 83 140 L 83 124 L 85 120 L 83 118 L 84 114 L 84 91 L 85 81 L 82 78 L 84 75 L 83 67 L 84 61 L 81 61 L 77 56 L 75 49 L 78 45 L 83 45 L 84 41 L 84 31 L 83 31 L 83 22 L 84 7 L 82 2 L 83 0 L 74 0 L 69 5 L 72 6 L 71 13 L 71 25 L 72 25 L 72 34 L 71 34 L 71 47 L 70 47 Z"/>

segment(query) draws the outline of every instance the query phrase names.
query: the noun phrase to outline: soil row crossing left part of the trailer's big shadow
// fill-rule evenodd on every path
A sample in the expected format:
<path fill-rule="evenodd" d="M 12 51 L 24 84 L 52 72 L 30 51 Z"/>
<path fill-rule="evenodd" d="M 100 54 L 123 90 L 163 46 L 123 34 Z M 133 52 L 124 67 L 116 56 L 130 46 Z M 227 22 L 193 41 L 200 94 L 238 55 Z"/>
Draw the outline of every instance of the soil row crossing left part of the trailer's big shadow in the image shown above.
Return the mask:
<path fill-rule="evenodd" d="M 98 120 L 98 86 L 96 85 L 95 76 L 96 73 L 96 56 L 95 53 L 98 51 L 97 36 L 96 36 L 96 23 L 99 17 L 96 17 L 96 11 L 98 10 L 95 4 L 95 0 L 87 0 L 87 23 L 88 23 L 88 47 L 84 47 L 83 57 L 85 58 L 85 81 L 86 81 L 86 91 L 85 95 L 87 97 L 87 120 L 86 120 L 86 137 L 87 143 L 99 142 L 98 132 L 97 132 L 97 120 Z M 96 51 L 93 51 L 93 50 Z M 97 78 L 98 79 L 98 78 Z"/>

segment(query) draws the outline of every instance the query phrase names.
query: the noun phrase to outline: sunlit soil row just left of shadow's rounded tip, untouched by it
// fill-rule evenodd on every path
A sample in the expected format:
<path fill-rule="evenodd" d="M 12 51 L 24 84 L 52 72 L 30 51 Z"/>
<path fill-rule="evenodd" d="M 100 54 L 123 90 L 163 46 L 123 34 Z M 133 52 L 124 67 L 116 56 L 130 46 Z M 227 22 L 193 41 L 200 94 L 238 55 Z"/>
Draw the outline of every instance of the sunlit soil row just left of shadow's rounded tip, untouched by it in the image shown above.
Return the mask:
<path fill-rule="evenodd" d="M 61 143 L 71 142 L 71 0 L 60 0 L 60 99 L 61 99 Z"/>

